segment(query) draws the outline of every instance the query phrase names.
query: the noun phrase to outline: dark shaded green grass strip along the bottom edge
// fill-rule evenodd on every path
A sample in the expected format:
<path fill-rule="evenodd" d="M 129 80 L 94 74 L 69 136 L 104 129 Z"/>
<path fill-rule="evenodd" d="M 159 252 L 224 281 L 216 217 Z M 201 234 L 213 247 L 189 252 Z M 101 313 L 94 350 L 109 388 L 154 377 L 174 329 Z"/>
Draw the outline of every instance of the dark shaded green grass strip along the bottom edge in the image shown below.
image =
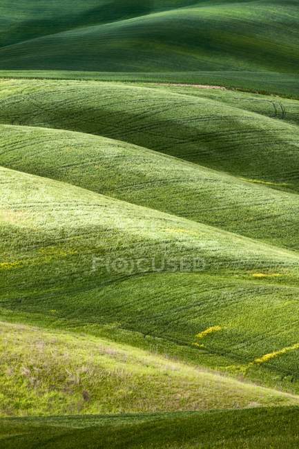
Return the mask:
<path fill-rule="evenodd" d="M 297 448 L 298 408 L 229 410 L 121 417 L 3 419 L 10 449 Z M 0 438 L 1 438 L 0 437 Z M 66 446 L 67 445 L 67 446 Z"/>

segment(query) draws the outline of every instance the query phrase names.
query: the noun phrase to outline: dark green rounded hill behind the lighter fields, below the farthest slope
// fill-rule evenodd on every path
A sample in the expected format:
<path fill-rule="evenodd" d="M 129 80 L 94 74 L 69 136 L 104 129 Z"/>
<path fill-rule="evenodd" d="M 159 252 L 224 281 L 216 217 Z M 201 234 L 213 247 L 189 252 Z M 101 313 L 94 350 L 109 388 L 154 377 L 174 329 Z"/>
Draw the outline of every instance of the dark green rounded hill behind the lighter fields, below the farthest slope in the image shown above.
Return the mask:
<path fill-rule="evenodd" d="M 80 7 L 78 14 L 75 8 L 68 26 L 64 24 L 63 16 L 61 21 L 55 21 L 54 17 L 54 24 L 52 27 L 49 24 L 47 31 L 41 22 L 40 33 L 47 34 L 44 37 L 22 42 L 22 33 L 18 34 L 18 29 L 12 28 L 12 41 L 17 39 L 19 43 L 1 48 L 0 67 L 124 72 L 298 72 L 298 0 L 198 1 L 189 8 L 171 10 L 167 9 L 171 6 L 175 8 L 175 3 L 177 6 L 188 6 L 193 2 L 154 2 L 151 6 L 148 1 L 144 6 L 143 3 L 138 6 L 136 1 L 129 1 L 121 2 L 126 6 L 122 6 L 119 12 L 119 3 L 110 2 L 106 5 L 110 17 L 104 24 L 101 23 L 103 19 L 105 21 L 105 13 L 101 18 L 103 5 L 94 6 L 93 17 L 92 3 L 89 0 L 86 8 Z M 162 11 L 155 12 L 157 10 Z M 53 12 L 50 12 L 51 15 Z M 32 19 L 35 21 L 34 10 Z M 22 23 L 18 26 L 21 27 Z M 26 30 L 26 18 L 24 26 L 26 39 L 26 34 L 30 37 L 30 31 Z M 64 26 L 65 31 L 57 32 L 59 27 L 62 30 Z M 9 35 L 10 32 L 4 42 L 9 43 Z"/>

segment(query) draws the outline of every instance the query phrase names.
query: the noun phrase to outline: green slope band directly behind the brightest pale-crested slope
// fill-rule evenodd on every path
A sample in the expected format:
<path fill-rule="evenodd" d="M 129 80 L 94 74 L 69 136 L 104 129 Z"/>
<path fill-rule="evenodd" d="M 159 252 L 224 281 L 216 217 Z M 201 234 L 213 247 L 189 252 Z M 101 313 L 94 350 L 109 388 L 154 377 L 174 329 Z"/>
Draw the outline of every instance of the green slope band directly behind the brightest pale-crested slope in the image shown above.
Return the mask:
<path fill-rule="evenodd" d="M 299 200 L 106 137 L 0 125 L 0 165 L 299 249 Z"/>

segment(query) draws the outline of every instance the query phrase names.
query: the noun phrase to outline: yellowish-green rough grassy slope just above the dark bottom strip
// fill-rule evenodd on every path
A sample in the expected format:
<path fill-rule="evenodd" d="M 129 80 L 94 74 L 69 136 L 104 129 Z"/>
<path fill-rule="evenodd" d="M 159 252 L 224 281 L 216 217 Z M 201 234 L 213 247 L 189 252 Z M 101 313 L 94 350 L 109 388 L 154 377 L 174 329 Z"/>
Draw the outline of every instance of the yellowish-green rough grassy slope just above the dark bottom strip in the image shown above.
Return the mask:
<path fill-rule="evenodd" d="M 0 341 L 2 417 L 299 404 L 290 394 L 93 336 L 0 323 Z"/>

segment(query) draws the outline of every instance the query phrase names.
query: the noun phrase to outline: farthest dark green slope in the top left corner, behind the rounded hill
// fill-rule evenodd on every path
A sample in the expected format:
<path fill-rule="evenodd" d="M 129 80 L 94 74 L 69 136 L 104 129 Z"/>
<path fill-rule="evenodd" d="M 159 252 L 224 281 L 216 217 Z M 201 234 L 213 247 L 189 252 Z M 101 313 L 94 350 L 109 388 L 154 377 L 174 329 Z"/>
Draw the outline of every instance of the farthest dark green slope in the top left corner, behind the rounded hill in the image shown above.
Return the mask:
<path fill-rule="evenodd" d="M 1 46 L 28 41 L 72 28 L 128 19 L 168 8 L 196 3 L 195 0 L 3 0 L 0 6 Z"/>

